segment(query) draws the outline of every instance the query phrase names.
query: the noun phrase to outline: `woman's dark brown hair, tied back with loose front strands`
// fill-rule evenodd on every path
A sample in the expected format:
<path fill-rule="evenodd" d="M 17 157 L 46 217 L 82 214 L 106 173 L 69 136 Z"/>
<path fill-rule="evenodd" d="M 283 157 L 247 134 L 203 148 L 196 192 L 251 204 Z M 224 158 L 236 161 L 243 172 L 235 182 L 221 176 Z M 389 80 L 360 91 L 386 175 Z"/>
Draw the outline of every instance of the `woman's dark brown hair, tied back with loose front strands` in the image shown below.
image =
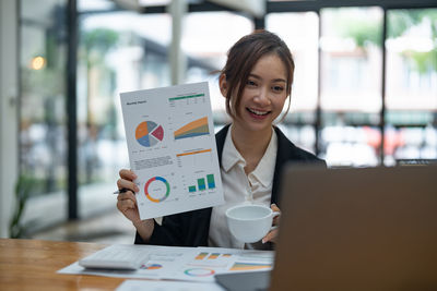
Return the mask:
<path fill-rule="evenodd" d="M 286 93 L 290 97 L 293 84 L 294 61 L 285 43 L 275 34 L 259 29 L 241 37 L 227 52 L 227 61 L 221 75 L 226 76 L 226 111 L 231 117 L 238 114 L 240 96 L 245 89 L 249 74 L 259 59 L 275 53 L 284 63 L 287 72 Z M 237 93 L 237 94 L 235 94 Z M 233 100 L 235 98 L 235 100 Z M 233 109 L 235 110 L 233 112 Z M 290 109 L 290 102 L 288 108 Z"/>

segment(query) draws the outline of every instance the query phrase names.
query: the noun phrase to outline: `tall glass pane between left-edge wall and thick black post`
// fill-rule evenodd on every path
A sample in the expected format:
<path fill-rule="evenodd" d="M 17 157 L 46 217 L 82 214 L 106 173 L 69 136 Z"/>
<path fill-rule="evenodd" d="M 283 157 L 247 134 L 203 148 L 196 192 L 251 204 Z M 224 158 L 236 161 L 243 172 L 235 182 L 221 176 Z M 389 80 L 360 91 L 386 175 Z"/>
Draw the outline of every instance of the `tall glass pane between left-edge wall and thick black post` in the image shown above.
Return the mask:
<path fill-rule="evenodd" d="M 66 198 L 66 4 L 20 4 L 20 172 L 31 183 L 23 220 L 33 223 L 32 231 L 66 216 L 66 208 L 47 216 L 45 205 L 38 204 Z M 38 199 L 32 199 L 35 196 Z"/>

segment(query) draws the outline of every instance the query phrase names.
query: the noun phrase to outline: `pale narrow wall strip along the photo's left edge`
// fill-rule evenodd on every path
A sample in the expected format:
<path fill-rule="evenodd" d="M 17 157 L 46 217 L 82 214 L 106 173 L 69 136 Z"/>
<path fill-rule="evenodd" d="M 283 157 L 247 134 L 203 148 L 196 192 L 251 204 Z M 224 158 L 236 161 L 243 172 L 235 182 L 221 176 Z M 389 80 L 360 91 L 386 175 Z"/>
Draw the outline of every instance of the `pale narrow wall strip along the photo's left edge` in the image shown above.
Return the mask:
<path fill-rule="evenodd" d="M 19 170 L 17 1 L 0 1 L 0 238 L 9 238 Z"/>

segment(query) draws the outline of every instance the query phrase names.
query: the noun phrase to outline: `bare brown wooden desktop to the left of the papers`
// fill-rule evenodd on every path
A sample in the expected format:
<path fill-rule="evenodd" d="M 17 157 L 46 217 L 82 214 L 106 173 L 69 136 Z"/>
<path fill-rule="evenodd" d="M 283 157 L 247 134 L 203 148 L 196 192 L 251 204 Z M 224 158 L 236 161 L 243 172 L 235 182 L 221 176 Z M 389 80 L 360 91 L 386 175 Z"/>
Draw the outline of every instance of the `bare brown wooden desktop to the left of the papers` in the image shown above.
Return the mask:
<path fill-rule="evenodd" d="M 56 272 L 105 246 L 0 239 L 0 290 L 114 290 L 125 279 Z"/>

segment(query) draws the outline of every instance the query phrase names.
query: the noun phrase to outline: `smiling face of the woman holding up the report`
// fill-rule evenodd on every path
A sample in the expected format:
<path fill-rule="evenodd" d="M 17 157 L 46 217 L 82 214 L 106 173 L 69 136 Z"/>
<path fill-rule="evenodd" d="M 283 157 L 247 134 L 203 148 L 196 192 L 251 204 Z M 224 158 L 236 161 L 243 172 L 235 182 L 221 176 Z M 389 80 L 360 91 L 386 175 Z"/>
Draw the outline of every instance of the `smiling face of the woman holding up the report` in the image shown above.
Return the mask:
<path fill-rule="evenodd" d="M 249 74 L 240 104 L 235 108 L 234 124 L 251 132 L 270 131 L 287 97 L 286 80 L 286 69 L 280 57 L 271 53 L 260 58 Z M 221 85 L 222 82 L 225 81 L 221 80 Z"/>

